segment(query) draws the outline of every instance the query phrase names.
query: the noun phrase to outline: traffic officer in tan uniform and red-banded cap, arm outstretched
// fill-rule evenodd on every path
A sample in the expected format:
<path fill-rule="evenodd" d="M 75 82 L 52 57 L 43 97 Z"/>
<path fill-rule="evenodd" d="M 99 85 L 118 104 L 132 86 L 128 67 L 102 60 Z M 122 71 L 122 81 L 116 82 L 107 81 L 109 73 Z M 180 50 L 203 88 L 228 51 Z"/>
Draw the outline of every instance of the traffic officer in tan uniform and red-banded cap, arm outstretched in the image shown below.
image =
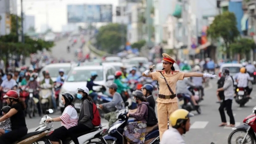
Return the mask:
<path fill-rule="evenodd" d="M 183 80 L 184 77 L 191 76 L 216 77 L 216 75 L 208 73 L 179 72 L 173 67 L 173 63 L 176 61 L 172 57 L 166 53 L 162 53 L 162 56 L 162 70 L 156 70 L 151 73 L 149 70 L 145 70 L 142 73 L 143 76 L 151 77 L 159 83 L 159 93 L 156 101 L 160 139 L 163 132 L 167 129 L 168 117 L 174 110 L 178 109 L 178 100 L 175 92 L 177 80 Z"/>

